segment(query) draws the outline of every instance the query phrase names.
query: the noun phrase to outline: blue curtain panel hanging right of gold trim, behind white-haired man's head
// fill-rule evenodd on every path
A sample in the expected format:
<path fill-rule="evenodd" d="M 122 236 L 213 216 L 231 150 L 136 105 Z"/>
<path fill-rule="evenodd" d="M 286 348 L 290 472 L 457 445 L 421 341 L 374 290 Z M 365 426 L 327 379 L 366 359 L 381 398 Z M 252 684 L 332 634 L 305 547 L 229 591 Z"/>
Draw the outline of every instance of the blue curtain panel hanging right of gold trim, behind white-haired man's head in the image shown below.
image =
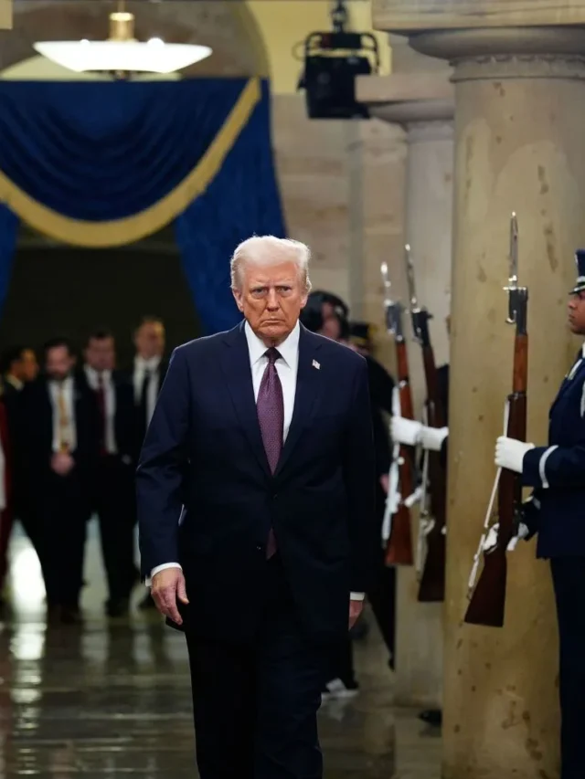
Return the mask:
<path fill-rule="evenodd" d="M 208 333 L 228 330 L 241 319 L 229 289 L 234 248 L 252 235 L 285 235 L 270 131 L 270 95 L 263 84 L 262 100 L 218 175 L 176 219 L 186 278 Z"/>

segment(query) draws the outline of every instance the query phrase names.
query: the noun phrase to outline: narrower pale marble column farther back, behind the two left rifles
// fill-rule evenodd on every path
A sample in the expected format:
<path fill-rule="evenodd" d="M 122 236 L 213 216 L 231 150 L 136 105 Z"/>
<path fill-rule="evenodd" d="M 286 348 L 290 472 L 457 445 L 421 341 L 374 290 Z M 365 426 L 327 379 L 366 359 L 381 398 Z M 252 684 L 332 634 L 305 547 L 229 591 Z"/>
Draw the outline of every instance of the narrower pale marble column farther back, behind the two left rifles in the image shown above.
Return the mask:
<path fill-rule="evenodd" d="M 393 62 L 404 61 L 403 47 L 396 47 Z M 411 52 L 413 54 L 413 52 Z M 396 60 L 399 60 L 398 62 Z M 409 73 L 398 71 L 382 79 L 360 79 L 358 96 L 367 100 L 379 119 L 404 128 L 407 139 L 405 237 L 416 267 L 420 302 L 434 315 L 431 338 L 437 364 L 449 361 L 445 318 L 451 300 L 453 92 L 448 71 L 429 72 L 429 58 L 406 58 Z M 426 72 L 412 72 L 419 60 Z M 408 303 L 402 247 L 389 262 L 394 295 Z M 408 317 L 407 317 L 408 318 Z M 410 382 L 417 416 L 426 396 L 420 347 L 411 338 Z M 418 518 L 413 512 L 416 535 Z M 397 589 L 397 642 L 395 701 L 399 705 L 441 706 L 442 607 L 417 600 L 418 582 L 413 567 L 400 567 Z"/>

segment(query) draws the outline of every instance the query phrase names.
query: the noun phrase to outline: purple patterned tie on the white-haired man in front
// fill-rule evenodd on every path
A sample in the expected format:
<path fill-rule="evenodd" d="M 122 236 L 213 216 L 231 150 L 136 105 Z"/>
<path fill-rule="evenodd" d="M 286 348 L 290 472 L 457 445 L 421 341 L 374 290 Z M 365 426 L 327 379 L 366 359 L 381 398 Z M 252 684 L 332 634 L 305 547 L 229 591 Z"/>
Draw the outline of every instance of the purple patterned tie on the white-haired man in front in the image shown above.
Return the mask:
<path fill-rule="evenodd" d="M 258 421 L 264 444 L 264 451 L 268 458 L 268 464 L 271 472 L 274 473 L 278 466 L 282 452 L 282 437 L 284 435 L 284 403 L 282 401 L 282 384 L 276 370 L 276 361 L 281 356 L 273 347 L 265 353 L 268 357 L 268 364 L 264 370 L 256 408 L 258 410 Z M 276 539 L 274 532 L 268 535 L 266 544 L 266 557 L 270 560 L 276 552 Z"/>

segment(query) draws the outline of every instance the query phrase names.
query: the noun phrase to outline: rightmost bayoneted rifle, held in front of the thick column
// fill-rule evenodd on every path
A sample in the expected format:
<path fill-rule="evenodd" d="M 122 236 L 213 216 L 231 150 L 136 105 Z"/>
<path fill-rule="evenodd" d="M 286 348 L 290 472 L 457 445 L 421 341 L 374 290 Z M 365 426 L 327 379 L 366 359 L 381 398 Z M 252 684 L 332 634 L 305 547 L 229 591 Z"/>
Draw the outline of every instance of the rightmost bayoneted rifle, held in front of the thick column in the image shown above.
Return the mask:
<path fill-rule="evenodd" d="M 505 404 L 505 435 L 526 441 L 527 438 L 527 371 L 528 290 L 518 287 L 518 226 L 516 214 L 510 220 L 510 277 L 508 286 L 508 316 L 506 322 L 516 325 L 514 340 L 514 368 L 512 393 Z M 498 521 L 491 528 L 492 508 L 497 490 Z M 507 579 L 508 549 L 513 549 L 518 525 L 522 520 L 522 479 L 511 470 L 499 468 L 495 477 L 492 500 L 485 518 L 484 533 L 474 557 L 469 590 L 473 590 L 481 553 L 484 552 L 484 568 L 477 586 L 470 597 L 464 616 L 469 625 L 488 627 L 504 626 L 505 584 Z M 487 531 L 487 532 L 485 532 Z M 468 593 L 469 597 L 469 593 Z"/>

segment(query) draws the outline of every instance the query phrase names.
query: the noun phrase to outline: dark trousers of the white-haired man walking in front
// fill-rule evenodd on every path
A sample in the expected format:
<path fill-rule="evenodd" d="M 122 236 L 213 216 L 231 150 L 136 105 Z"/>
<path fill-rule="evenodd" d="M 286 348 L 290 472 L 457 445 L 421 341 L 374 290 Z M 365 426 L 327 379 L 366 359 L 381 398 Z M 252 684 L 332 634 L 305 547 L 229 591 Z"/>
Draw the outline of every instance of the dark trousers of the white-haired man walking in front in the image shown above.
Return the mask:
<path fill-rule="evenodd" d="M 328 648 L 297 622 L 278 559 L 266 563 L 267 603 L 251 645 L 187 630 L 201 779 L 321 779 L 316 714 Z"/>

